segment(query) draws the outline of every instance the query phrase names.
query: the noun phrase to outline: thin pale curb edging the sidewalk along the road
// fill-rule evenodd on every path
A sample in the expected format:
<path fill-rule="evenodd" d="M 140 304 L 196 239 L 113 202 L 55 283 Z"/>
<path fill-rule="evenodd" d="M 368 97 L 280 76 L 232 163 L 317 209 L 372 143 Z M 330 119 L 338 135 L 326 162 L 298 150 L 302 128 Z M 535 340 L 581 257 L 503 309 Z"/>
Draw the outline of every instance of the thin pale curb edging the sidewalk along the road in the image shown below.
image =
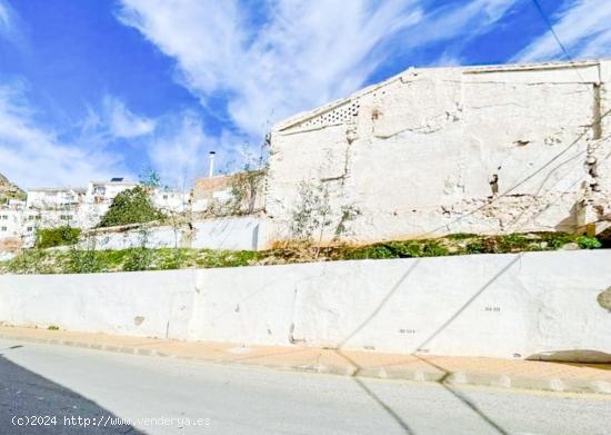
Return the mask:
<path fill-rule="evenodd" d="M 81 347 L 93 350 L 113 352 L 119 354 L 141 355 L 141 356 L 159 356 L 176 359 L 199 360 L 217 364 L 231 364 L 241 366 L 259 366 L 272 369 L 292 370 L 314 374 L 329 374 L 359 378 L 378 378 L 378 379 L 403 379 L 412 382 L 435 383 L 441 385 L 477 385 L 507 389 L 532 389 L 554 393 L 594 393 L 602 395 L 611 395 L 611 382 L 602 379 L 579 379 L 579 378 L 541 378 L 528 376 L 509 376 L 500 374 L 490 374 L 482 372 L 454 372 L 440 373 L 439 370 L 410 370 L 402 368 L 384 368 L 384 367 L 363 367 L 358 368 L 353 365 L 276 365 L 246 360 L 231 360 L 226 358 L 206 358 L 193 357 L 186 355 L 173 355 L 157 349 L 141 348 L 136 346 L 117 346 L 106 344 L 93 344 L 87 342 L 78 342 L 72 339 L 61 338 L 36 338 L 21 335 L 11 335 L 0 333 L 0 338 L 12 339 L 19 342 L 40 343 L 58 346 Z"/>

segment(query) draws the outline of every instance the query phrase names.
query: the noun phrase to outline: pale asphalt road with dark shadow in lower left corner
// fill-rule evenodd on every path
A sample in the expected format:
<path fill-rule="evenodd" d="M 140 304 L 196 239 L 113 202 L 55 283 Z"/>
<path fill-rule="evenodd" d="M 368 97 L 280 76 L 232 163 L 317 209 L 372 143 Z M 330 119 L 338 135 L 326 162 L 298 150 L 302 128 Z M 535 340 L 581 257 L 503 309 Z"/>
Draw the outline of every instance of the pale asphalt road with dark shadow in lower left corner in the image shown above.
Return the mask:
<path fill-rule="evenodd" d="M 609 434 L 609 422 L 602 395 L 449 389 L 0 339 L 0 434 L 581 435 Z"/>

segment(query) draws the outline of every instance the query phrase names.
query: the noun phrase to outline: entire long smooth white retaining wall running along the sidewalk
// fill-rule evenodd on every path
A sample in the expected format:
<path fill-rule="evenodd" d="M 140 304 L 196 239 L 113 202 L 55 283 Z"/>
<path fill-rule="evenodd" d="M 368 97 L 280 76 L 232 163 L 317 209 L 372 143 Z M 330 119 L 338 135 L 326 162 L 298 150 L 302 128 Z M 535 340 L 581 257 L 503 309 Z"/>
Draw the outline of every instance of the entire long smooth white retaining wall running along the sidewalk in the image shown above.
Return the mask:
<path fill-rule="evenodd" d="M 611 360 L 611 313 L 597 301 L 611 286 L 610 264 L 611 250 L 582 250 L 6 275 L 0 320 L 244 345 Z"/>

